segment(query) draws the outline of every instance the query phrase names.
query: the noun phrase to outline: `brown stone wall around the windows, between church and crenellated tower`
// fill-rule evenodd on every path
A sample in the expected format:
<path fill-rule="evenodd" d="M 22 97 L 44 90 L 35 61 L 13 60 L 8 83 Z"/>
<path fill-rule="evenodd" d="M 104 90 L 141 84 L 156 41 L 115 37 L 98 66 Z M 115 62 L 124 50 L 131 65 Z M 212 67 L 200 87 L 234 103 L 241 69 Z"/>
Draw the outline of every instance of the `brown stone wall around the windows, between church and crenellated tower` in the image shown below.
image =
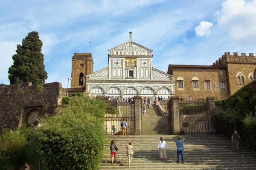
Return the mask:
<path fill-rule="evenodd" d="M 204 70 L 205 71 L 204 71 Z M 226 69 L 222 69 L 223 74 L 220 74 L 219 68 L 173 68 L 172 74 L 176 77 L 183 77 L 184 90 L 177 88 L 177 80 L 175 79 L 175 91 L 177 96 L 184 99 L 205 99 L 207 96 L 214 96 L 215 99 L 225 98 L 228 95 Z M 192 78 L 198 77 L 199 89 L 193 90 Z M 205 90 L 204 80 L 210 80 L 211 90 Z M 224 81 L 226 88 L 220 88 L 220 81 Z M 198 90 L 198 91 L 196 91 Z"/>

